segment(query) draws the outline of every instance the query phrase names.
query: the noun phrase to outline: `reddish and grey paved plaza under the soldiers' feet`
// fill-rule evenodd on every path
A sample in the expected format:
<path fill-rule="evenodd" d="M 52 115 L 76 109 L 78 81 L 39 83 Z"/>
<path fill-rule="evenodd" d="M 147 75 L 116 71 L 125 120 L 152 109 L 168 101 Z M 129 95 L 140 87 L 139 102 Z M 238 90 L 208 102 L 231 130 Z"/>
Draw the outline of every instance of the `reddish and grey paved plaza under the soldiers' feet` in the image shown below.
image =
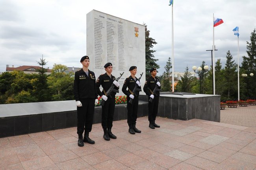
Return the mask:
<path fill-rule="evenodd" d="M 157 117 L 161 128 L 128 133 L 126 120 L 113 122 L 117 139 L 77 146 L 76 128 L 0 138 L 0 170 L 256 170 L 256 106 L 221 110 L 221 122 Z"/>

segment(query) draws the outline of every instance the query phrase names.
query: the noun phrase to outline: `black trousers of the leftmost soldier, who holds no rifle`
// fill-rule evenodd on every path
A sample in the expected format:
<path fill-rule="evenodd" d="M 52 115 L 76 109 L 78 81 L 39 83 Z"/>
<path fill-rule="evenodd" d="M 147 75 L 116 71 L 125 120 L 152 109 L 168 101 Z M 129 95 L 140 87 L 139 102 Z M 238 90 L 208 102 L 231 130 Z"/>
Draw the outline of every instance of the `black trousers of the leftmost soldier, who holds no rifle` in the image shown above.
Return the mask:
<path fill-rule="evenodd" d="M 81 99 L 80 102 L 82 107 L 77 107 L 77 133 L 83 134 L 83 130 L 91 132 L 95 99 Z"/>

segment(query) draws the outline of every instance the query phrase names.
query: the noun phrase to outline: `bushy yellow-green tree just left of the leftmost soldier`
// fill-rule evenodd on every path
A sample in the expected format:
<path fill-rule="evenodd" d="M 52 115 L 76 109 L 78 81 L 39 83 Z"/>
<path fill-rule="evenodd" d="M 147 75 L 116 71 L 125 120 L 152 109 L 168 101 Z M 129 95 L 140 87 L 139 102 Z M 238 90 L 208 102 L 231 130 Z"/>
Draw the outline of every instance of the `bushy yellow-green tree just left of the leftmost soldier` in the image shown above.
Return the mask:
<path fill-rule="evenodd" d="M 47 79 L 53 93 L 53 101 L 72 100 L 74 73 L 65 73 L 67 66 L 54 64 L 52 73 Z"/>

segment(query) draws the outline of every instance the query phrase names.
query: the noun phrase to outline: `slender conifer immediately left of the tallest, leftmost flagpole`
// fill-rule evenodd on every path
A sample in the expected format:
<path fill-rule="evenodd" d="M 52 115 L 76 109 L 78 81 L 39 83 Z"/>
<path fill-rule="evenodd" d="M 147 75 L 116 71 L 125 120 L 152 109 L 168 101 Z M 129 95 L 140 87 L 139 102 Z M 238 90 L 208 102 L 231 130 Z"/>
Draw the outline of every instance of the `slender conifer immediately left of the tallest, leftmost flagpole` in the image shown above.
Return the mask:
<path fill-rule="evenodd" d="M 163 72 L 163 76 L 161 78 L 161 89 L 162 91 L 171 91 L 171 69 L 172 69 L 171 57 L 168 58 L 165 71 Z"/>

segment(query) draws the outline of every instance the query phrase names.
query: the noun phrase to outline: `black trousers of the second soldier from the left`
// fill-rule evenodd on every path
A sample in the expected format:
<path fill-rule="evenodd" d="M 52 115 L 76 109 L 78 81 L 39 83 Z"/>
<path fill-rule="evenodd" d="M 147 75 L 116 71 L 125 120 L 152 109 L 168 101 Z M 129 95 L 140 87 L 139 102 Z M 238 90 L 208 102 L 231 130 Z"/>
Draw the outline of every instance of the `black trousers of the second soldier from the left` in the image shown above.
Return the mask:
<path fill-rule="evenodd" d="M 104 106 L 102 106 L 102 113 L 101 113 L 102 128 L 112 128 L 114 112 L 115 112 L 115 96 L 113 96 L 112 98 L 108 97 L 108 100 L 105 102 Z"/>

